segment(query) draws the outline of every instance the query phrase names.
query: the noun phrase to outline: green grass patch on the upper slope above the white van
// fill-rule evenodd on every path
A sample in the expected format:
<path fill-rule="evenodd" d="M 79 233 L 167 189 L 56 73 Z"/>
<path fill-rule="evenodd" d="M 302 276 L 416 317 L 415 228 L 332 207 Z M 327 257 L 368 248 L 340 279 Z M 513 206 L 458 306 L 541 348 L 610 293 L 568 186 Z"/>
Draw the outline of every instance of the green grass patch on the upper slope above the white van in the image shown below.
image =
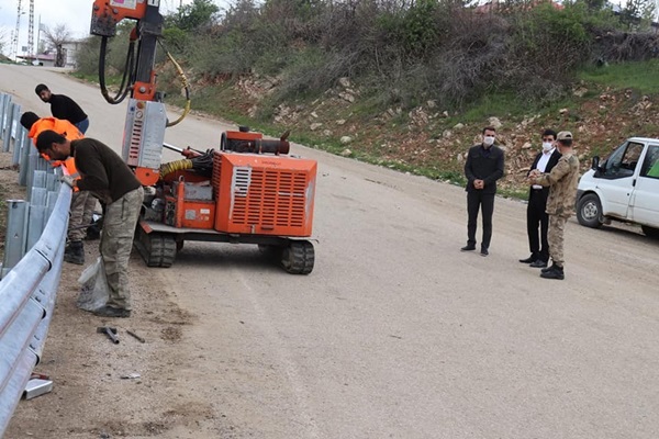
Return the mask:
<path fill-rule="evenodd" d="M 635 89 L 644 94 L 659 93 L 659 59 L 590 67 L 579 74 L 579 79 L 614 89 Z"/>

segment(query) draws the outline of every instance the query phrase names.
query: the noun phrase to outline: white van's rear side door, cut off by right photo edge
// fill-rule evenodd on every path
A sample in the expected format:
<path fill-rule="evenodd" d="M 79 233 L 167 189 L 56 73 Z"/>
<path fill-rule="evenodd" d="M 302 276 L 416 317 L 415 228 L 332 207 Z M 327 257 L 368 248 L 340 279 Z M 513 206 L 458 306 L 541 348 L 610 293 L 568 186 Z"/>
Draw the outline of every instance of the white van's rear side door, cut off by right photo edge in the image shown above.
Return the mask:
<path fill-rule="evenodd" d="M 659 145 L 646 150 L 629 203 L 630 219 L 659 227 Z"/>

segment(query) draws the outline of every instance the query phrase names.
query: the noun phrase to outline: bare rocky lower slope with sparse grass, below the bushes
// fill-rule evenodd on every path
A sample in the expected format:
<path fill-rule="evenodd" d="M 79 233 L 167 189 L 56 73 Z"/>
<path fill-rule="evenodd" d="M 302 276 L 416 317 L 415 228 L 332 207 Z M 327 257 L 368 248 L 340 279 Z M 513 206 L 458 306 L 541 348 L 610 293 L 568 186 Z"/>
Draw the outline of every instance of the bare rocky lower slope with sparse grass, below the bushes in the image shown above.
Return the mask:
<path fill-rule="evenodd" d="M 524 177 L 546 127 L 574 134 L 583 170 L 593 155 L 605 156 L 628 136 L 659 135 L 658 75 L 656 59 L 593 67 L 580 71 L 568 98 L 550 105 L 530 105 L 513 93 L 488 94 L 459 112 L 432 100 L 407 111 L 382 110 L 348 79 L 320 98 L 273 105 L 277 80 L 245 76 L 194 85 L 192 108 L 272 136 L 291 130 L 293 142 L 456 184 L 463 183 L 465 153 L 482 127 L 494 124 L 506 151 L 503 193 L 525 196 Z M 168 101 L 183 102 L 171 97 Z"/>

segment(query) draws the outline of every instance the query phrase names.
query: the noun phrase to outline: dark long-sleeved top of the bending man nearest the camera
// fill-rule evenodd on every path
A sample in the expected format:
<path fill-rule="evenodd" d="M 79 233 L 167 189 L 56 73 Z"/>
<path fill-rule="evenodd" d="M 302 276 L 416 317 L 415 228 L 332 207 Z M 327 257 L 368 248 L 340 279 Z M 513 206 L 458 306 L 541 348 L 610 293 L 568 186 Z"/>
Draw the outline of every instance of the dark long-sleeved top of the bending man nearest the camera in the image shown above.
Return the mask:
<path fill-rule="evenodd" d="M 71 156 L 80 173 L 78 188 L 90 191 L 102 203 L 113 203 L 142 185 L 122 158 L 102 142 L 89 137 L 72 140 Z"/>

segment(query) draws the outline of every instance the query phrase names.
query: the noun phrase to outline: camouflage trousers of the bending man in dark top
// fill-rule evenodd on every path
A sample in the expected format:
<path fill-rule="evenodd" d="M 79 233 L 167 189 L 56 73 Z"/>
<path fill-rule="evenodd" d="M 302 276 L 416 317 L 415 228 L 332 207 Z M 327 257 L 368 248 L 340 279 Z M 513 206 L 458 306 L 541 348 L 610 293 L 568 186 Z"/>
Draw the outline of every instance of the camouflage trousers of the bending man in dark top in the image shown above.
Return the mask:
<path fill-rule="evenodd" d="M 100 250 L 110 286 L 107 305 L 115 308 L 132 307 L 129 259 L 143 200 L 144 190 L 137 188 L 105 207 Z"/>

